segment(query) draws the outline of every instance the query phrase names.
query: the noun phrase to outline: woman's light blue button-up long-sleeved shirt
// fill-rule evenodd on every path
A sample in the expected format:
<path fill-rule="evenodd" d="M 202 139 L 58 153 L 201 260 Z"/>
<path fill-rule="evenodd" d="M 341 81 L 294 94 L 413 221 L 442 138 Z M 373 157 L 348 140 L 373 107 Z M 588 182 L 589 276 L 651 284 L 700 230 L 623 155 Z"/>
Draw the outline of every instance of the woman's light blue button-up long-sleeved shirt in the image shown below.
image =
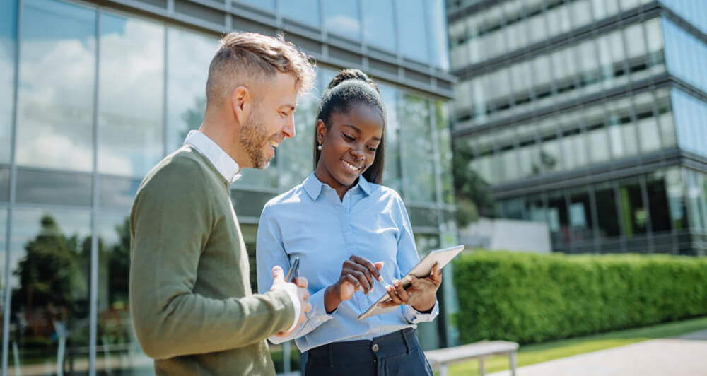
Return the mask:
<path fill-rule="evenodd" d="M 336 341 L 370 340 L 430 322 L 439 312 L 438 302 L 427 314 L 402 305 L 359 321 L 356 317 L 385 293 L 384 285 L 375 281 L 373 292 L 358 291 L 327 314 L 324 292 L 339 280 L 341 266 L 352 254 L 385 262 L 380 274 L 389 284 L 419 262 L 402 199 L 393 189 L 367 182 L 363 176 L 343 201 L 314 173 L 268 201 L 260 216 L 256 249 L 259 293 L 270 290 L 273 266 L 287 273 L 294 257 L 300 257 L 299 275 L 309 281 L 312 310 L 306 321 L 286 338 L 271 337 L 275 343 L 296 339 L 300 351 L 307 351 Z"/>

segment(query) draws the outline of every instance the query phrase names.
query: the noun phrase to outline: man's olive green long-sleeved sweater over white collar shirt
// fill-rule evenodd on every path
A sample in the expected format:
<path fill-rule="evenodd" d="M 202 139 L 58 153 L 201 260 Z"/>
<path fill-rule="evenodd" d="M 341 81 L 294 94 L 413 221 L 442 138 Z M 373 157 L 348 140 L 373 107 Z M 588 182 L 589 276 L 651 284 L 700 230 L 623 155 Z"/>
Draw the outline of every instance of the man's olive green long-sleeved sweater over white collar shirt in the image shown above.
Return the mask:
<path fill-rule="evenodd" d="M 250 292 L 229 183 L 184 146 L 143 180 L 131 227 L 130 311 L 158 375 L 274 375 L 265 339 L 291 327 L 285 290 Z"/>

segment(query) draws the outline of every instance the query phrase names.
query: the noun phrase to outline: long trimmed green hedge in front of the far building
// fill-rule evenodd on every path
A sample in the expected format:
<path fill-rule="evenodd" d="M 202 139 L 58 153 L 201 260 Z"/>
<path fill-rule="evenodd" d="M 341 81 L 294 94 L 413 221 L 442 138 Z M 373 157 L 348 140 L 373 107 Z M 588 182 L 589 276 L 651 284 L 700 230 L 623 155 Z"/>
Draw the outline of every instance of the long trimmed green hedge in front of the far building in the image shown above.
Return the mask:
<path fill-rule="evenodd" d="M 464 343 L 537 343 L 707 314 L 707 258 L 476 251 L 454 264 Z"/>

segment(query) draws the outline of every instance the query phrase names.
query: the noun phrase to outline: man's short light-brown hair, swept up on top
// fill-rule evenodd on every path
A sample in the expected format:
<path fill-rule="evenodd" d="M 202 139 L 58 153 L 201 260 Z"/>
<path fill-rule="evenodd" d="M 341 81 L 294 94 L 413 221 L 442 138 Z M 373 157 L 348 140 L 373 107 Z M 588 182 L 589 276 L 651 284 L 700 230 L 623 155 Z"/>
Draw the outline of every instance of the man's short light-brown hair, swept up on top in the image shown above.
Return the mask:
<path fill-rule="evenodd" d="M 309 90 L 315 80 L 310 59 L 282 35 L 228 33 L 211 59 L 207 102 L 221 102 L 230 98 L 236 86 L 274 78 L 277 72 L 295 76 L 298 92 Z"/>

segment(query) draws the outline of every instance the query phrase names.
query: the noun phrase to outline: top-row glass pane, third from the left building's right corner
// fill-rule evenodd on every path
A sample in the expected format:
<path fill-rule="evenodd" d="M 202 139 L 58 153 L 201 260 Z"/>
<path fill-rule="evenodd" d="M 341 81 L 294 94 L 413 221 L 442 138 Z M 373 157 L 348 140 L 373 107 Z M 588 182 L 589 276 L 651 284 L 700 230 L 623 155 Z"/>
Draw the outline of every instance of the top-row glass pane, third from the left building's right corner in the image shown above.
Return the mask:
<path fill-rule="evenodd" d="M 395 16 L 393 0 L 363 2 L 363 37 L 369 46 L 395 52 Z"/>

